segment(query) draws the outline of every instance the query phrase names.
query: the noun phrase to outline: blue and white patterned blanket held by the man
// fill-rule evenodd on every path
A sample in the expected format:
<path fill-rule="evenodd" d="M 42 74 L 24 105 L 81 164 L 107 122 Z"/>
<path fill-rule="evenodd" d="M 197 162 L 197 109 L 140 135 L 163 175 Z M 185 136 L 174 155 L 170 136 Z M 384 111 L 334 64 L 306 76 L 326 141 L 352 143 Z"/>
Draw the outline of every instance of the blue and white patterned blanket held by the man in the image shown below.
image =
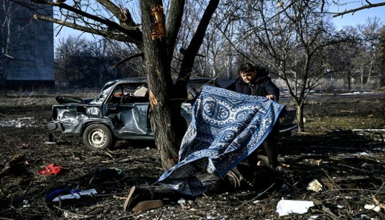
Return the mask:
<path fill-rule="evenodd" d="M 186 195 L 202 194 L 211 183 L 198 176 L 226 174 L 262 144 L 283 108 L 265 97 L 205 86 L 194 104 L 179 163 L 158 182 Z"/>

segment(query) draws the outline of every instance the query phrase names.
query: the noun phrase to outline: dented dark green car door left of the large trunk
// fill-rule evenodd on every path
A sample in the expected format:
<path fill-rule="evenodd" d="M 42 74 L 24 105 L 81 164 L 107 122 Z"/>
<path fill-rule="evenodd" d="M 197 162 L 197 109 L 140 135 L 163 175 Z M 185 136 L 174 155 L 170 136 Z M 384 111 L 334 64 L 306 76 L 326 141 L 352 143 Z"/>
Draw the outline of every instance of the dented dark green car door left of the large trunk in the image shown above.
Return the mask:
<path fill-rule="evenodd" d="M 149 103 L 146 83 L 118 84 L 107 103 L 106 116 L 124 137 L 152 135 L 149 121 Z"/>

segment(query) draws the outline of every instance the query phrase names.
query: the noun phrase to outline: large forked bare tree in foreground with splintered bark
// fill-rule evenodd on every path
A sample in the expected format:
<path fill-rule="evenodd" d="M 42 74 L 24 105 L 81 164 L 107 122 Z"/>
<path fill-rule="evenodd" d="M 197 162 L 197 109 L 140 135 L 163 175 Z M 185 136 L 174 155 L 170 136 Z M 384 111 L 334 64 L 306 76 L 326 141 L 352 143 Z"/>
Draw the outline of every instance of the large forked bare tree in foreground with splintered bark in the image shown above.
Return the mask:
<path fill-rule="evenodd" d="M 18 1 L 18 0 L 15 0 Z M 127 5 L 115 5 L 110 0 L 57 1 L 31 0 L 33 3 L 60 9 L 61 18 L 36 14 L 35 18 L 57 23 L 83 32 L 136 45 L 144 54 L 145 72 L 149 85 L 151 125 L 162 166 L 170 168 L 178 159 L 177 148 L 183 131 L 180 124 L 180 103 L 187 98 L 186 85 L 193 69 L 195 57 L 203 42 L 210 19 L 219 0 L 201 4 L 205 11 L 199 25 L 184 49 L 176 85 L 171 80 L 171 62 L 175 43 L 182 23 L 185 1 L 170 1 L 167 17 L 161 0 L 140 0 Z M 128 5 L 131 4 L 131 5 Z M 140 8 L 140 12 L 130 12 Z M 140 15 L 134 21 L 132 15 Z M 185 125 L 184 125 L 185 126 Z"/>

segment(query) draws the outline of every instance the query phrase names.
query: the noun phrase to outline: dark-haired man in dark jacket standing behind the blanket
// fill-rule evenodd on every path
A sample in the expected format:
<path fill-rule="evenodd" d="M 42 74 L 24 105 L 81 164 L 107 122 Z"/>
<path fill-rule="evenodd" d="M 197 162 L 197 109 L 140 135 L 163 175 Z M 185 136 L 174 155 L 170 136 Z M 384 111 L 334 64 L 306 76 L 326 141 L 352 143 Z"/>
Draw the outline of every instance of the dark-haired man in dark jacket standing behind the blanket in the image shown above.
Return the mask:
<path fill-rule="evenodd" d="M 240 75 L 239 78 L 226 89 L 246 95 L 264 96 L 269 100 L 279 100 L 279 89 L 271 81 L 270 77 L 268 76 L 269 71 L 266 68 L 247 63 L 240 67 L 238 73 Z M 273 131 L 263 142 L 263 146 L 269 161 L 269 167 L 273 169 L 276 169 L 278 165 L 278 154 L 276 148 L 276 138 L 278 133 L 279 120 L 277 120 Z M 257 162 L 256 156 L 256 152 L 251 154 L 248 158 L 248 162 Z"/>

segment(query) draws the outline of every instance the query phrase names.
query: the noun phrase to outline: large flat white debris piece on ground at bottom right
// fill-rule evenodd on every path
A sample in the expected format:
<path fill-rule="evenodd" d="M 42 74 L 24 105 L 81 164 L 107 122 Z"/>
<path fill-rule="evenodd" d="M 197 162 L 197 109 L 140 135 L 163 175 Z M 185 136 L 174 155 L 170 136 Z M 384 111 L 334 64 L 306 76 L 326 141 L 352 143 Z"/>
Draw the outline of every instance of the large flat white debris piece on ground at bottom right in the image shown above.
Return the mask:
<path fill-rule="evenodd" d="M 281 199 L 277 204 L 276 211 L 279 213 L 279 216 L 290 213 L 303 214 L 312 206 L 314 206 L 313 201 Z"/>

